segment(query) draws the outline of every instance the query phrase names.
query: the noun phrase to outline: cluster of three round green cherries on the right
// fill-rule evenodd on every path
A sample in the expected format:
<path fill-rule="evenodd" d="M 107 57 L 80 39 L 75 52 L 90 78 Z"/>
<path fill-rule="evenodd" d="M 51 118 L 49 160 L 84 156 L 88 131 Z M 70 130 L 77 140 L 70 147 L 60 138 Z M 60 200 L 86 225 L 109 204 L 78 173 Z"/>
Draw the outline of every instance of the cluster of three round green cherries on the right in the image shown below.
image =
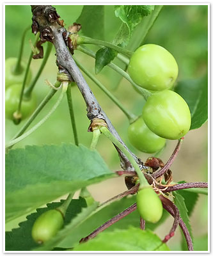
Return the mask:
<path fill-rule="evenodd" d="M 191 113 L 185 100 L 172 91 L 178 76 L 172 54 L 160 45 L 143 45 L 132 54 L 128 71 L 136 84 L 153 93 L 142 115 L 129 126 L 130 143 L 141 152 L 154 153 L 166 139 L 182 138 L 190 129 Z"/>

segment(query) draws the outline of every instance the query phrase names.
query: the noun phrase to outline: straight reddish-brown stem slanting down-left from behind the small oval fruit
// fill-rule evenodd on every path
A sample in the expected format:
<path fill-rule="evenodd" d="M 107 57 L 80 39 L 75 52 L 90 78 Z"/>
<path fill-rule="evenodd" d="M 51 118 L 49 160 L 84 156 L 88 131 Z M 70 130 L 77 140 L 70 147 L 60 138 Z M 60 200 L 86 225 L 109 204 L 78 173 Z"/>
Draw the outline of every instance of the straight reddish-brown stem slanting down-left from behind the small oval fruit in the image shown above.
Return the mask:
<path fill-rule="evenodd" d="M 124 211 L 120 212 L 119 214 L 117 214 L 116 216 L 111 218 L 111 220 L 106 221 L 103 225 L 101 225 L 95 231 L 91 232 L 91 234 L 89 236 L 86 236 L 86 237 L 82 238 L 81 241 L 79 241 L 79 243 L 86 242 L 89 239 L 97 236 L 97 234 L 99 234 L 100 232 L 104 231 L 106 228 L 110 227 L 111 225 L 113 225 L 117 221 L 122 220 L 125 216 L 127 216 L 131 212 L 135 211 L 136 208 L 137 208 L 137 205 L 136 204 L 132 204 L 130 207 L 128 207 Z"/>

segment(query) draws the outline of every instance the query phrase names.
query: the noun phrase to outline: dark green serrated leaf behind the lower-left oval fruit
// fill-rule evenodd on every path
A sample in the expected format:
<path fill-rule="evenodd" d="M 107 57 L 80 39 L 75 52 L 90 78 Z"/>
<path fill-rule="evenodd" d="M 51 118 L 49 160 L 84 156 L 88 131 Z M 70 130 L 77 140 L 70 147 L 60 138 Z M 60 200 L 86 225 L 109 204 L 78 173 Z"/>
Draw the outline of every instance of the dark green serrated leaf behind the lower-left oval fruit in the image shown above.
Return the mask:
<path fill-rule="evenodd" d="M 29 251 L 32 248 L 38 246 L 31 237 L 31 230 L 35 220 L 45 211 L 56 209 L 65 200 L 52 204 L 47 204 L 47 207 L 36 209 L 36 212 L 27 216 L 27 220 L 19 223 L 19 228 L 15 228 L 10 232 L 5 232 L 5 250 L 6 251 Z M 86 207 L 86 202 L 83 198 L 73 199 L 68 206 L 65 214 L 65 225 L 75 218 L 75 216 L 81 212 L 82 207 Z"/>

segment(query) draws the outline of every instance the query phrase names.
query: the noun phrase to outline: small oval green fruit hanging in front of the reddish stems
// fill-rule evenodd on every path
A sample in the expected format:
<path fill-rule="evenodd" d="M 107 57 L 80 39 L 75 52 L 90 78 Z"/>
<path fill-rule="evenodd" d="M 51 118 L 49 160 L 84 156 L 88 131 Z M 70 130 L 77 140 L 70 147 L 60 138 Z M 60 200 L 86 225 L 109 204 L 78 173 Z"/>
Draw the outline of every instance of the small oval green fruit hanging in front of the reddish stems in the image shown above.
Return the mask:
<path fill-rule="evenodd" d="M 156 223 L 162 216 L 162 202 L 152 187 L 145 187 L 136 196 L 137 209 L 145 221 Z"/>

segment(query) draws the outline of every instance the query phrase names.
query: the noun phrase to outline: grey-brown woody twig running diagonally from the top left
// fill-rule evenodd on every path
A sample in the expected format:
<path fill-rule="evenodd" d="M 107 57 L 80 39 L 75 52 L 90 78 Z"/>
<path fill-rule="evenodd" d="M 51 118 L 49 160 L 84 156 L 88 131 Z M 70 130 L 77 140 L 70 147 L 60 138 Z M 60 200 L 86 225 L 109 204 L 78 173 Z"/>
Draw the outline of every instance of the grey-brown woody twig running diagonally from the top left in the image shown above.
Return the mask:
<path fill-rule="evenodd" d="M 57 63 L 68 71 L 68 73 L 73 77 L 75 83 L 77 84 L 81 94 L 83 95 L 84 101 L 86 102 L 88 118 L 90 120 L 93 120 L 93 118 L 100 118 L 105 120 L 109 131 L 117 138 L 118 141 L 123 144 L 125 148 L 127 148 L 116 129 L 114 129 L 113 124 L 111 124 L 111 121 L 107 117 L 106 113 L 104 113 L 100 107 L 100 104 L 95 98 L 95 95 L 93 95 L 93 92 L 91 92 L 91 89 L 81 74 L 81 71 L 75 64 L 70 51 L 68 51 L 64 40 L 68 32 L 65 28 L 63 28 L 63 26 L 61 26 L 61 22 L 58 20 L 59 15 L 56 13 L 55 8 L 52 6 L 44 5 L 31 7 L 33 12 L 33 33 L 40 31 L 41 39 L 49 40 L 54 44 L 56 49 Z M 123 152 L 121 152 L 117 147 L 116 150 L 120 156 L 122 168 L 124 170 L 134 170 L 125 154 L 123 154 Z M 129 148 L 127 148 L 127 150 L 130 152 Z M 130 152 L 130 154 L 132 157 L 134 157 L 138 164 L 143 165 L 143 163 L 135 154 L 132 152 Z"/>

